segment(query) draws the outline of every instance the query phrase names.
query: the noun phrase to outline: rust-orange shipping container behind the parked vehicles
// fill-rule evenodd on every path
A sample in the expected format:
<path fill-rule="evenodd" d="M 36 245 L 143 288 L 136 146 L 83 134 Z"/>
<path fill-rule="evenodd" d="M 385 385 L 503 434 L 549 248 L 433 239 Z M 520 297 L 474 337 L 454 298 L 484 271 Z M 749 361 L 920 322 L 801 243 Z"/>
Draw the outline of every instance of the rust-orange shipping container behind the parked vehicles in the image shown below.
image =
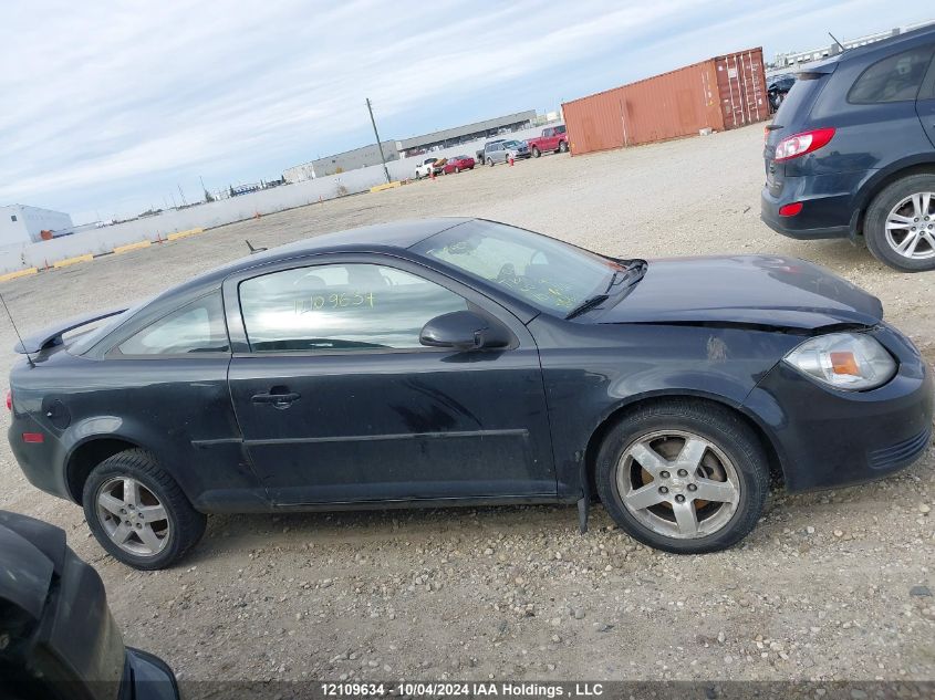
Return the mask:
<path fill-rule="evenodd" d="M 769 117 L 762 49 L 716 56 L 562 104 L 572 155 Z"/>

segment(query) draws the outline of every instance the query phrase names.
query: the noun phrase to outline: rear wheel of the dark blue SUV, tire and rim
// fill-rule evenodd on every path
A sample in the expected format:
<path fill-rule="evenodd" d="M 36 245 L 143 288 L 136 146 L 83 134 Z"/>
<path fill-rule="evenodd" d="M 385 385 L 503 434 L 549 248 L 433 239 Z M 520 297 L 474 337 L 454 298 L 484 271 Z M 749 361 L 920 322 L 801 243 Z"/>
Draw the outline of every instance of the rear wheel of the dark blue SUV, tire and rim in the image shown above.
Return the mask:
<path fill-rule="evenodd" d="M 864 237 L 891 268 L 935 270 L 935 175 L 912 175 L 880 192 L 868 209 Z"/>

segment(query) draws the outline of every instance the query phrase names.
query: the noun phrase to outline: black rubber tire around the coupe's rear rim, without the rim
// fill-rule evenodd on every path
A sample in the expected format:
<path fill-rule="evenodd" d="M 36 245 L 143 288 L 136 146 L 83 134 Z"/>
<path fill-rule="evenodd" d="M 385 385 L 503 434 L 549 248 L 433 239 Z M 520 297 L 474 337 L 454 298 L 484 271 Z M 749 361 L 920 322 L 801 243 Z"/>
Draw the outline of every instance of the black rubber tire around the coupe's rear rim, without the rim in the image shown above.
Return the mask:
<path fill-rule="evenodd" d="M 152 491 L 163 506 L 166 509 L 166 518 L 169 521 L 169 542 L 155 556 L 137 556 L 122 550 L 108 536 L 97 516 L 96 497 L 100 488 L 114 478 L 131 477 L 139 481 Z M 168 478 L 168 477 L 166 477 Z M 85 481 L 82 495 L 84 518 L 94 537 L 106 552 L 115 560 L 139 570 L 158 570 L 172 564 L 175 560 L 185 554 L 190 543 L 185 542 L 183 536 L 184 527 L 181 513 L 176 499 L 168 493 L 148 471 L 139 469 L 132 458 L 124 458 L 123 453 L 112 457 L 98 464 Z M 188 505 L 187 503 L 185 505 Z M 190 508 L 190 505 L 188 505 Z M 200 536 L 200 533 L 199 533 Z"/>

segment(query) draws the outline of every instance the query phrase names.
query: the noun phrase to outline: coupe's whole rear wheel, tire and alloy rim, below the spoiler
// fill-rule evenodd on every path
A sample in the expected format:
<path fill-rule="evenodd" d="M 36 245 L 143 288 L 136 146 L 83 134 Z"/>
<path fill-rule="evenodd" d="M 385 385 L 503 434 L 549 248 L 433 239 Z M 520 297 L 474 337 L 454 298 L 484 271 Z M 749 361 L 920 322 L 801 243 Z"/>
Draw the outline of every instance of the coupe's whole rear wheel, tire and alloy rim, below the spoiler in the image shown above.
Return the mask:
<path fill-rule="evenodd" d="M 205 533 L 207 518 L 144 450 L 97 464 L 84 483 L 84 518 L 104 550 L 127 566 L 165 568 Z"/>

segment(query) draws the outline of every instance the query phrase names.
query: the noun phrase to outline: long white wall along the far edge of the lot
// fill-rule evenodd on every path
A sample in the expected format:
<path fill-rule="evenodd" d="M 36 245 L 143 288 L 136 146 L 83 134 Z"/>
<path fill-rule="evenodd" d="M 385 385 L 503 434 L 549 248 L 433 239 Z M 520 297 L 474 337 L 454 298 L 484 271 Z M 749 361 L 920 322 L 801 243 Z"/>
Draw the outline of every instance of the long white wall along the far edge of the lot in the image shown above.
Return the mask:
<path fill-rule="evenodd" d="M 538 136 L 541 133 L 542 127 L 540 126 L 505 134 L 496 138 L 524 139 Z M 475 152 L 479 150 L 486 140 L 490 139 L 478 139 L 454 148 L 433 152 L 432 155 L 438 158 L 460 154 L 474 156 Z M 415 177 L 416 165 L 425 158 L 426 156 L 414 156 L 393 160 L 387 163 L 386 167 L 394 180 L 412 179 Z M 188 209 L 163 211 L 154 217 L 83 231 L 51 241 L 6 245 L 0 248 L 0 273 L 13 272 L 23 268 L 43 268 L 59 260 L 85 253 L 107 253 L 116 245 L 135 243 L 144 239 L 166 238 L 169 233 L 177 231 L 224 226 L 225 223 L 249 219 L 257 213 L 274 213 L 325 199 L 334 199 L 343 195 L 363 192 L 384 182 L 386 182 L 386 177 L 383 174 L 383 166 L 376 165 L 349 170 L 341 175 L 320 177 L 314 180 L 282 185 L 240 197 L 220 199 Z"/>

